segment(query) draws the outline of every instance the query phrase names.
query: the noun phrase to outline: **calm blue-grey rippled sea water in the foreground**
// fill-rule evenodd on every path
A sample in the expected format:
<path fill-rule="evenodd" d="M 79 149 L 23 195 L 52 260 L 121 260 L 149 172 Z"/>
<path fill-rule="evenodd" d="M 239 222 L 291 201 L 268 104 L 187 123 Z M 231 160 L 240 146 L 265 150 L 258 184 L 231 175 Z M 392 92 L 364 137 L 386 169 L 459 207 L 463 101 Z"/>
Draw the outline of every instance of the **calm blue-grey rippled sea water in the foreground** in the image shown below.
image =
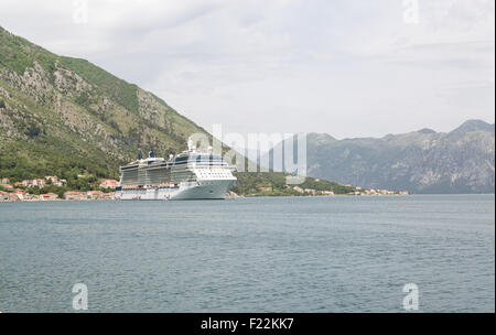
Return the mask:
<path fill-rule="evenodd" d="M 0 204 L 0 311 L 495 311 L 494 195 Z"/>

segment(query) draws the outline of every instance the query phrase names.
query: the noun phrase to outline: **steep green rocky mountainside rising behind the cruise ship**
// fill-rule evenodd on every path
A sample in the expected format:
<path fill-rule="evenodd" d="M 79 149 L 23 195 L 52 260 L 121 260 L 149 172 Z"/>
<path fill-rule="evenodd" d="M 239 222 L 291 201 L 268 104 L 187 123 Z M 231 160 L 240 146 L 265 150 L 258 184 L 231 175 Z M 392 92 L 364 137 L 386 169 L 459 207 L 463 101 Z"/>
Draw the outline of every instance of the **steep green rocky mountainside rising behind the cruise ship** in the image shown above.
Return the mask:
<path fill-rule="evenodd" d="M 212 139 L 152 93 L 0 26 L 0 177 L 57 175 L 68 180 L 68 187 L 85 190 L 95 179 L 117 179 L 119 165 L 136 159 L 139 149 L 169 156 L 183 151 L 193 133 Z M 93 184 L 80 181 L 80 174 Z M 233 191 L 240 195 L 294 195 L 282 173 L 236 176 Z M 268 186 L 272 193 L 260 191 Z M 355 191 L 314 179 L 301 186 Z"/>

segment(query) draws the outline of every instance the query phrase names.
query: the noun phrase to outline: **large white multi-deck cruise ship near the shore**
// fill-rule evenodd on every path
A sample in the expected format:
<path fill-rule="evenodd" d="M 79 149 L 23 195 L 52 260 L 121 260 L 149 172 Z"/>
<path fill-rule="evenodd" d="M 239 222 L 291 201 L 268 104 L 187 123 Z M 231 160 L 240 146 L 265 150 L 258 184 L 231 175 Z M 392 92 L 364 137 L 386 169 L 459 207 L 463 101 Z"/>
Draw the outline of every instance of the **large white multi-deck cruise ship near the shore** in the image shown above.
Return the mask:
<path fill-rule="evenodd" d="M 219 154 L 188 149 L 169 160 L 141 153 L 137 161 L 120 166 L 116 198 L 122 201 L 223 199 L 236 183 L 234 166 Z"/>

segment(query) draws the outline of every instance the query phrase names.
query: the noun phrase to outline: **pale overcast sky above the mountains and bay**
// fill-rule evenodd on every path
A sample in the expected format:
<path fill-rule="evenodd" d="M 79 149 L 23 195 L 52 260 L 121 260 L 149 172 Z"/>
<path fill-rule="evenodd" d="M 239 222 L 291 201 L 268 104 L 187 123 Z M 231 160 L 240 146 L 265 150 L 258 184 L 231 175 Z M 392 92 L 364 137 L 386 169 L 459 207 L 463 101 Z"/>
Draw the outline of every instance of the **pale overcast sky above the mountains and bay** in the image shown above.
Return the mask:
<path fill-rule="evenodd" d="M 0 25 L 208 130 L 341 139 L 493 123 L 494 12 L 494 0 L 1 0 Z"/>

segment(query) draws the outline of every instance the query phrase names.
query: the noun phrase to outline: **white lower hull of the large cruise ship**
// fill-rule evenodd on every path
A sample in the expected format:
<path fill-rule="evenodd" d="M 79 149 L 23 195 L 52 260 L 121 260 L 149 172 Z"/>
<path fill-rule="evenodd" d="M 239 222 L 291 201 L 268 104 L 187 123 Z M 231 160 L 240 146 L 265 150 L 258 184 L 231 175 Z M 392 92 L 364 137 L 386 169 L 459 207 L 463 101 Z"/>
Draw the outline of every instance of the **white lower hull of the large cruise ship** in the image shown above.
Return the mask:
<path fill-rule="evenodd" d="M 116 192 L 122 201 L 224 199 L 236 180 L 180 183 L 176 187 L 142 187 Z"/>

